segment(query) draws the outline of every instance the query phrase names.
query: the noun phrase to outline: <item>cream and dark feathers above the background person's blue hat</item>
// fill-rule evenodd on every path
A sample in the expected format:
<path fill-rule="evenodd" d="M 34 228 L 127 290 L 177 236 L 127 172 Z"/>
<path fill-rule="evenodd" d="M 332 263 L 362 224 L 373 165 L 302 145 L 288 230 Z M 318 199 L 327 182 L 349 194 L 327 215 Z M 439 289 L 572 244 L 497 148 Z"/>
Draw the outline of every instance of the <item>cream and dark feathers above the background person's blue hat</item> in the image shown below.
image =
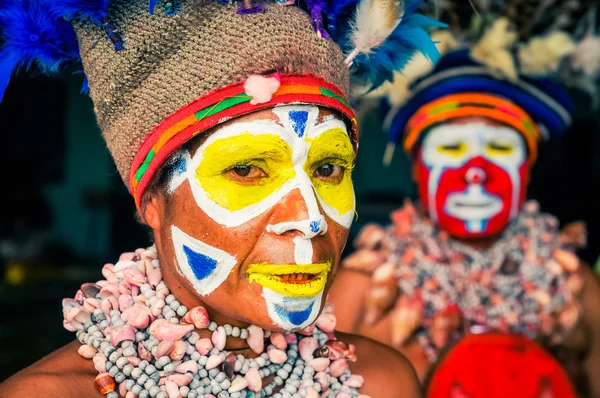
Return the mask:
<path fill-rule="evenodd" d="M 432 33 L 440 53 L 468 49 L 499 79 L 551 78 L 587 92 L 597 104 L 600 94 L 600 13 L 593 0 L 425 1 L 421 12 L 449 29 Z M 420 55 L 373 92 L 400 106 L 412 82 L 433 70 Z"/>

